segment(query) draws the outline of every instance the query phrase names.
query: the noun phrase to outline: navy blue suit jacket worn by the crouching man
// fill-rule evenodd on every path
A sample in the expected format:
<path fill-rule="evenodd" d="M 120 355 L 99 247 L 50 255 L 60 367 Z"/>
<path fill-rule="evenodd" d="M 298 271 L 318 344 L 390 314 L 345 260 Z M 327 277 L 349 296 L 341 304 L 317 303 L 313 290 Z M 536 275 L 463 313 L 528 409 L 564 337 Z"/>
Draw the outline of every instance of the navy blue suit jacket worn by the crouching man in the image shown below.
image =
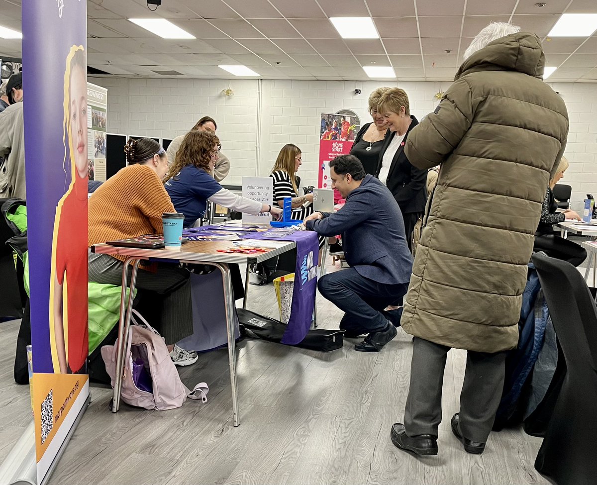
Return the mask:
<path fill-rule="evenodd" d="M 342 235 L 344 257 L 359 275 L 384 284 L 408 283 L 413 256 L 404 219 L 392 193 L 378 179 L 365 176 L 336 213 L 309 220 L 307 229 L 323 236 Z"/>

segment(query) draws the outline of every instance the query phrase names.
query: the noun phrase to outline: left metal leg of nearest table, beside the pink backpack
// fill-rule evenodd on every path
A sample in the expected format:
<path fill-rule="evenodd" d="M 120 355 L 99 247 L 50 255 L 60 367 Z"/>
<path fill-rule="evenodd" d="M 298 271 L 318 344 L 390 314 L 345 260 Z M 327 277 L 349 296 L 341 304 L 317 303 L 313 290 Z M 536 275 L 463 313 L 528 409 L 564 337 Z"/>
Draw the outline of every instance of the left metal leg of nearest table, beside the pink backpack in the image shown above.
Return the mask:
<path fill-rule="evenodd" d="M 122 373 L 124 372 L 124 354 L 127 351 L 128 327 L 131 323 L 131 311 L 133 311 L 135 283 L 137 281 L 137 269 L 139 269 L 139 262 L 139 259 L 131 257 L 127 259 L 122 266 L 122 293 L 120 299 L 120 320 L 118 322 L 118 349 L 116 349 L 116 375 L 114 377 L 114 392 L 112 395 L 113 413 L 118 412 L 118 408 L 120 407 Z M 133 265 L 133 269 L 131 271 L 131 285 L 128 294 L 127 305 L 127 278 L 129 263 Z"/>

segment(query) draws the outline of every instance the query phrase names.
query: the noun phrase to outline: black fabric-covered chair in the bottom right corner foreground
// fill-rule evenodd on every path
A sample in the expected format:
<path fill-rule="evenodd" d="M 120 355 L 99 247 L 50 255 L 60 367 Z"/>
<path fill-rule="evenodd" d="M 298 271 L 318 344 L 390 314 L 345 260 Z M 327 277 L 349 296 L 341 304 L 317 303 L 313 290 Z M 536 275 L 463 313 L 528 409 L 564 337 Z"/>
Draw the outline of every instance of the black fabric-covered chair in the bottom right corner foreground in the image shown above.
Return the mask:
<path fill-rule="evenodd" d="M 535 468 L 558 485 L 593 485 L 597 477 L 597 307 L 580 272 L 533 254 L 568 367 Z"/>

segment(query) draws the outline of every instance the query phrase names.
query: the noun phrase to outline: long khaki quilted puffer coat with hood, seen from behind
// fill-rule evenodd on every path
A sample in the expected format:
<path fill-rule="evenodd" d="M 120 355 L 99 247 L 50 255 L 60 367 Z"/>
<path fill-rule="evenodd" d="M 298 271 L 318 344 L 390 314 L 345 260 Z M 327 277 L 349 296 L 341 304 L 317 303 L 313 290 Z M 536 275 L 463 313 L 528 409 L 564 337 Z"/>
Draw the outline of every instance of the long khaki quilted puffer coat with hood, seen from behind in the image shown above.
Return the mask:
<path fill-rule="evenodd" d="M 491 42 L 408 137 L 411 164 L 441 170 L 405 297 L 407 333 L 477 352 L 516 347 L 541 202 L 568 134 L 543 65 L 536 35 Z"/>

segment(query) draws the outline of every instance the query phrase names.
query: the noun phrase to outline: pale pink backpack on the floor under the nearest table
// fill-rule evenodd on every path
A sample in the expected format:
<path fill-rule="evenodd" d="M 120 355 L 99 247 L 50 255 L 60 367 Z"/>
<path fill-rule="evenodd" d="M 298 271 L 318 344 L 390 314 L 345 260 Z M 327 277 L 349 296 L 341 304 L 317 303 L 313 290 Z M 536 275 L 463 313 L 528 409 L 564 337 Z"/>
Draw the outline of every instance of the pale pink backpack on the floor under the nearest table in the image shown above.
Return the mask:
<path fill-rule="evenodd" d="M 193 391 L 189 391 L 180 380 L 164 339 L 139 312 L 133 310 L 133 314 L 143 324 L 137 323 L 131 316 L 122 379 L 122 400 L 131 406 L 159 411 L 180 407 L 187 397 L 207 402 L 207 384 L 201 382 Z M 118 340 L 115 345 L 104 345 L 101 348 L 101 357 L 106 364 L 106 372 L 112 379 L 112 388 L 116 376 L 117 349 Z"/>

